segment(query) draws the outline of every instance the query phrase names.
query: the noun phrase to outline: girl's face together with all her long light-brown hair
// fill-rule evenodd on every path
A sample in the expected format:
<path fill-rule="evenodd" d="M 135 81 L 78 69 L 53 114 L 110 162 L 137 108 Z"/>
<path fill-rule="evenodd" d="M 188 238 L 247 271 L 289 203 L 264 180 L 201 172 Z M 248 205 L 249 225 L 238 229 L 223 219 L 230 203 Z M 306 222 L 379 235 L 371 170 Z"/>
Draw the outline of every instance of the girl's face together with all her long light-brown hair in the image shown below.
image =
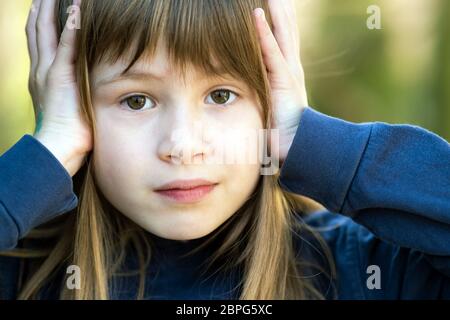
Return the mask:
<path fill-rule="evenodd" d="M 55 8 L 59 30 L 71 3 Z M 261 176 L 259 155 L 233 161 L 255 159 L 258 140 L 243 134 L 258 136 L 271 123 L 257 7 L 269 13 L 266 0 L 82 1 L 77 77 L 94 150 L 77 175 L 77 212 L 22 297 L 69 260 L 83 287 L 63 288 L 62 296 L 107 298 L 128 244 L 145 272 L 147 232 L 173 240 L 224 235 L 211 261 L 242 267 L 241 298 L 316 295 L 294 251 L 303 199 L 281 190 L 278 175 Z M 215 187 L 193 203 L 156 192 L 180 179 Z M 138 296 L 142 290 L 143 283 Z"/>

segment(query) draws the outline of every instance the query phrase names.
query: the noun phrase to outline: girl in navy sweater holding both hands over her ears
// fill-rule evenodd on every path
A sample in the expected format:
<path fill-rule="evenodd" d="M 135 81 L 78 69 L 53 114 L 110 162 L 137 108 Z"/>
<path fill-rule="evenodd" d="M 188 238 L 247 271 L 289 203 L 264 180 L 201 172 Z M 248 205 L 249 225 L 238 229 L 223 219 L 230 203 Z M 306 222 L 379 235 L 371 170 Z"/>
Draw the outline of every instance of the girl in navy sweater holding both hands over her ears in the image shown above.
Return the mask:
<path fill-rule="evenodd" d="M 71 4 L 30 12 L 3 298 L 450 298 L 449 144 L 309 108 L 293 1 Z M 255 145 L 228 129 L 278 130 L 280 172 L 218 161 Z"/>

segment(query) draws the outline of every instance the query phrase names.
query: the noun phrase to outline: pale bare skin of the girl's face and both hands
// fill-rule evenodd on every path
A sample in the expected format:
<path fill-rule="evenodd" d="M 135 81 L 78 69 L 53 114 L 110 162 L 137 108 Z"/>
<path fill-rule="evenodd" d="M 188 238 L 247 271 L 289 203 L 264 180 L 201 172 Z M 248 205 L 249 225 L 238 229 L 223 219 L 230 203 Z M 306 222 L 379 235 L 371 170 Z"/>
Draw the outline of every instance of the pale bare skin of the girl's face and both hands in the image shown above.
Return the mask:
<path fill-rule="evenodd" d="M 254 18 L 270 80 L 273 127 L 280 130 L 279 141 L 272 144 L 279 145 L 282 162 L 308 103 L 294 1 L 268 0 L 268 3 L 274 32 L 262 9 L 255 10 Z M 212 232 L 251 195 L 259 179 L 259 165 L 193 165 L 190 161 L 195 159 L 214 159 L 221 145 L 234 146 L 236 140 L 227 136 L 225 141 L 217 137 L 204 141 L 190 129 L 195 123 L 206 130 L 225 125 L 235 130 L 262 128 L 251 90 L 235 79 L 209 79 L 195 69 L 190 70 L 188 81 L 183 83 L 176 70 L 167 65 L 164 46 L 157 51 L 156 60 L 136 65 L 147 72 L 158 69 L 152 71 L 165 76 L 161 81 L 121 81 L 107 89 L 99 84 L 124 65 L 99 65 L 93 71 L 98 135 L 94 148 L 93 134 L 80 115 L 74 72 L 76 29 L 66 26 L 58 42 L 54 5 L 55 0 L 34 0 L 27 22 L 29 87 L 36 114 L 41 113 L 42 119 L 35 138 L 55 155 L 70 176 L 75 175 L 93 150 L 101 191 L 119 211 L 144 229 L 178 240 Z M 240 99 L 225 108 L 206 102 L 213 90 L 222 87 L 238 93 Z M 154 98 L 156 107 L 143 112 L 122 108 L 119 98 L 136 93 Z M 177 158 L 171 152 L 176 141 L 170 135 L 183 130 L 187 132 L 183 144 L 192 152 L 189 157 Z M 240 150 L 236 148 L 235 152 Z M 179 164 L 175 165 L 174 160 Z M 218 185 L 202 202 L 190 205 L 167 202 L 154 192 L 174 179 L 192 178 L 209 179 Z"/>

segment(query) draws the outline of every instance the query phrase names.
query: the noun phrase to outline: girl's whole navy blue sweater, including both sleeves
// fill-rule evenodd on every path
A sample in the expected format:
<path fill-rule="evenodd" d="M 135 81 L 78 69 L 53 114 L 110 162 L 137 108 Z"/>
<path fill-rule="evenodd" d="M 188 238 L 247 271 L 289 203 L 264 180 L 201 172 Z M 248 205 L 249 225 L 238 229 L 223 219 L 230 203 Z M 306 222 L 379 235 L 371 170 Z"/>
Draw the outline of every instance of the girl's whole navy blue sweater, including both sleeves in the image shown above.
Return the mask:
<path fill-rule="evenodd" d="M 304 220 L 331 249 L 337 298 L 450 298 L 450 145 L 444 139 L 414 126 L 354 124 L 307 108 L 279 182 L 327 208 Z M 77 204 L 71 177 L 32 136 L 0 157 L 0 250 Z M 238 298 L 238 272 L 197 268 L 214 248 L 180 260 L 206 237 L 151 236 L 156 255 L 146 297 Z M 19 259 L 0 257 L 0 298 L 16 297 L 18 269 Z M 112 298 L 136 297 L 137 277 L 116 280 Z M 56 298 L 57 290 L 41 297 Z"/>

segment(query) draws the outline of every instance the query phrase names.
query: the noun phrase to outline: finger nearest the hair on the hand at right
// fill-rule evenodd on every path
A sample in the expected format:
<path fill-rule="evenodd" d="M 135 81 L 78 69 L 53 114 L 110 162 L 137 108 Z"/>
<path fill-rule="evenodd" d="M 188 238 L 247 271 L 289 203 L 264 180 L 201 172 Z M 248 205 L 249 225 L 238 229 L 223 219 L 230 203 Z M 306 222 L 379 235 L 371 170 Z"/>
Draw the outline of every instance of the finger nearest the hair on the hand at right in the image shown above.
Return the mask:
<path fill-rule="evenodd" d="M 284 61 L 283 54 L 278 46 L 275 36 L 267 23 L 264 10 L 261 8 L 255 9 L 254 16 L 266 67 L 269 69 L 269 72 L 272 73 L 284 70 L 286 62 Z"/>

